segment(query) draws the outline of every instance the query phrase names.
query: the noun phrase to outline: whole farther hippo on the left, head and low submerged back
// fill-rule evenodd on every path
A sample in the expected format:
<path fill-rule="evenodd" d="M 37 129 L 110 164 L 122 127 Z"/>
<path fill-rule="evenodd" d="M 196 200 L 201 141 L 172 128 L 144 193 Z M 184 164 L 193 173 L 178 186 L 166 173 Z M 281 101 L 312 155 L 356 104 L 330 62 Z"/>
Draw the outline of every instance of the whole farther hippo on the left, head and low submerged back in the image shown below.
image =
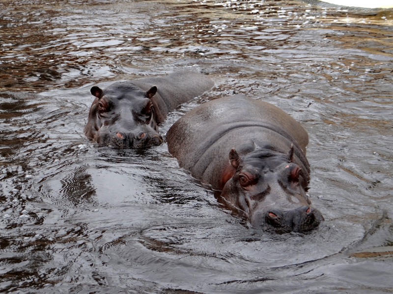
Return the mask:
<path fill-rule="evenodd" d="M 168 112 L 212 87 L 210 78 L 194 72 L 116 82 L 104 90 L 94 86 L 84 134 L 113 148 L 159 145 L 158 125 Z"/>

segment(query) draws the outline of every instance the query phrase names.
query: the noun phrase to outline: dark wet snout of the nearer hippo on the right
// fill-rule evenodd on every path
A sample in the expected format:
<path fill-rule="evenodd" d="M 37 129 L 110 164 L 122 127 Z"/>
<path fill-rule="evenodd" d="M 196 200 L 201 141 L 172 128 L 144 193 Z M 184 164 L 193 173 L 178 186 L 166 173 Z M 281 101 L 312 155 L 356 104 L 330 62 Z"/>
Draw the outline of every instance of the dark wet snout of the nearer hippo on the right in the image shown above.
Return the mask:
<path fill-rule="evenodd" d="M 309 206 L 301 206 L 285 212 L 272 209 L 265 213 L 264 218 L 266 224 L 283 232 L 306 232 L 316 228 L 323 220 L 320 211 Z"/>

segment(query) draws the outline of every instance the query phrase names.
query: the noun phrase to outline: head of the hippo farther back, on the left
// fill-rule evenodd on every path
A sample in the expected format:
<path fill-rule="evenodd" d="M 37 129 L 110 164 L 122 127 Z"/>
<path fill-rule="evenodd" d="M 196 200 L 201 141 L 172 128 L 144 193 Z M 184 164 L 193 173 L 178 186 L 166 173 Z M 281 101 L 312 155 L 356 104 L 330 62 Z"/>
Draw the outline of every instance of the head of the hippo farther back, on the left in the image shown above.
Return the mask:
<path fill-rule="evenodd" d="M 157 87 L 147 92 L 126 82 L 112 84 L 105 90 L 90 90 L 95 100 L 90 107 L 84 133 L 98 144 L 113 148 L 141 148 L 163 142 L 158 133 L 162 117 L 153 96 Z"/>

